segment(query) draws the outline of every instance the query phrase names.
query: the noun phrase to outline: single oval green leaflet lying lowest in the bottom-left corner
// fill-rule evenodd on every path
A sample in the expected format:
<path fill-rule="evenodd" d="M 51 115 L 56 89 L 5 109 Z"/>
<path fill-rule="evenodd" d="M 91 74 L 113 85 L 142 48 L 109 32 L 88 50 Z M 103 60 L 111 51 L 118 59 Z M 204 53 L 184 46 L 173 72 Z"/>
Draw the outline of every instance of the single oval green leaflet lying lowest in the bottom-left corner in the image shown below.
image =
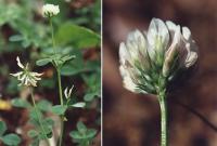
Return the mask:
<path fill-rule="evenodd" d="M 21 143 L 21 138 L 16 134 L 7 134 L 1 137 L 2 142 L 9 146 L 18 145 Z"/>

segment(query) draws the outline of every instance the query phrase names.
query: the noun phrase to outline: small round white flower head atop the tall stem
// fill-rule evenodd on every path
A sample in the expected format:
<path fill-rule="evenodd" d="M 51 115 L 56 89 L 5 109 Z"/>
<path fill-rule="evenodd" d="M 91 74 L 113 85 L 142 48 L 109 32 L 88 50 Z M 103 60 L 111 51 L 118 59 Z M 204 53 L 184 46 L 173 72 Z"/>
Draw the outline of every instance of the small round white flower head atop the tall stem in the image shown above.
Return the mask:
<path fill-rule="evenodd" d="M 54 15 L 58 15 L 59 13 L 60 13 L 59 5 L 48 3 L 42 6 L 42 14 L 44 17 L 52 17 Z"/>

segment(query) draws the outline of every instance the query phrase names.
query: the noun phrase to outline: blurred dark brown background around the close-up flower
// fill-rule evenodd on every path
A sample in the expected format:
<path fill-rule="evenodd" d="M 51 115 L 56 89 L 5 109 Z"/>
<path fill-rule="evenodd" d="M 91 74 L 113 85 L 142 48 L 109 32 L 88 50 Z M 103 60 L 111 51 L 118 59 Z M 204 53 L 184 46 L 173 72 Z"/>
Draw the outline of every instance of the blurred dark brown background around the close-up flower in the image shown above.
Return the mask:
<path fill-rule="evenodd" d="M 216 146 L 217 1 L 104 0 L 103 14 L 104 146 L 159 145 L 156 97 L 125 90 L 118 71 L 119 42 L 136 28 L 146 30 L 153 17 L 188 26 L 200 51 L 191 78 L 168 96 L 169 145 Z"/>

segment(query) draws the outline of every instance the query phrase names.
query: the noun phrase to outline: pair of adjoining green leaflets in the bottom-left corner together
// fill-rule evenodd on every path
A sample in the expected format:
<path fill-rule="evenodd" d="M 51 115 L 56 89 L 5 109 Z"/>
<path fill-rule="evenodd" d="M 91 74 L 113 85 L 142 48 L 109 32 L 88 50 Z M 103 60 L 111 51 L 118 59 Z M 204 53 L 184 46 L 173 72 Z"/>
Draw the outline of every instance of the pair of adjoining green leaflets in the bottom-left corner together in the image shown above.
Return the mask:
<path fill-rule="evenodd" d="M 21 143 L 21 137 L 13 133 L 5 134 L 7 129 L 7 124 L 0 121 L 0 141 L 9 146 L 17 146 Z"/>

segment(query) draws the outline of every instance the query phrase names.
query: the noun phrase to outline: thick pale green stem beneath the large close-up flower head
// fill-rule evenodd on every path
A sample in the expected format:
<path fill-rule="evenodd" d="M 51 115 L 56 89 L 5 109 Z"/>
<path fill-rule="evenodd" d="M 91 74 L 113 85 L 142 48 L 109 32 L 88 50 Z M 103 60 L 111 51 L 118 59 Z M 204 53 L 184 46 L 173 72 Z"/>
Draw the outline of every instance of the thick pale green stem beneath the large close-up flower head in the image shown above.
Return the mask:
<path fill-rule="evenodd" d="M 159 107 L 161 107 L 161 146 L 168 146 L 168 129 L 167 129 L 167 102 L 166 95 L 159 93 Z"/>

